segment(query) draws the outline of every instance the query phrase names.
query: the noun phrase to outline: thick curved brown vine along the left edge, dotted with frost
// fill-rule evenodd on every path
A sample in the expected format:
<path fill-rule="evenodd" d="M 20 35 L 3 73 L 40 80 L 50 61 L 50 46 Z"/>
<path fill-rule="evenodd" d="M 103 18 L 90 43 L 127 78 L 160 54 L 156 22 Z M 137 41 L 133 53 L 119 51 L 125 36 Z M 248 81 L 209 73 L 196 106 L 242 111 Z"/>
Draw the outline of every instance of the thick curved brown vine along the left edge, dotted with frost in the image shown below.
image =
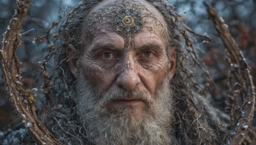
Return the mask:
<path fill-rule="evenodd" d="M 22 72 L 16 51 L 22 43 L 20 41 L 20 25 L 28 12 L 29 3 L 31 0 L 17 1 L 15 14 L 4 33 L 0 51 L 4 83 L 17 115 L 29 132 L 35 136 L 35 139 L 41 144 L 61 144 L 36 116 L 36 107 L 34 106 L 36 89 L 25 90 L 20 83 Z"/>

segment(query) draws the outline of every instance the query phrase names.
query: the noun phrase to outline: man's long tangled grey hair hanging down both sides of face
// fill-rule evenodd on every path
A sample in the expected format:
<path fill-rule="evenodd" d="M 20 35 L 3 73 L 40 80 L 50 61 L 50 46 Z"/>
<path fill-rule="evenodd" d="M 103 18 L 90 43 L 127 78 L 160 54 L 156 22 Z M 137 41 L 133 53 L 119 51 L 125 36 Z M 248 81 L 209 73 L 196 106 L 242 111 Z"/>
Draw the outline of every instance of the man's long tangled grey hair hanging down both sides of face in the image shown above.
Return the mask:
<path fill-rule="evenodd" d="M 51 85 L 57 96 L 54 99 L 68 107 L 74 107 L 72 93 L 76 79 L 68 66 L 68 57 L 65 52 L 68 44 L 72 44 L 78 52 L 83 52 L 83 39 L 90 40 L 90 35 L 84 35 L 83 29 L 86 18 L 92 8 L 102 0 L 84 0 L 78 4 L 67 16 L 61 26 L 61 45 L 56 50 L 56 64 Z M 165 0 L 147 0 L 163 15 L 167 24 L 167 41 L 169 49 L 175 49 L 177 64 L 175 74 L 170 84 L 175 91 L 175 122 L 173 132 L 180 144 L 220 144 L 223 132 L 219 125 L 221 118 L 216 116 L 216 109 L 207 101 L 204 87 L 195 81 L 196 71 L 193 69 L 198 62 L 195 53 L 189 51 L 189 35 L 184 35 L 186 25 L 179 21 L 179 15 L 173 11 L 173 6 Z M 83 36 L 83 37 L 82 37 Z M 170 50 L 168 50 L 170 51 Z M 199 66 L 201 68 L 201 66 Z M 200 91 L 198 91 L 200 90 Z M 198 93 L 199 92 L 199 93 Z M 228 118 L 223 114 L 223 118 Z M 222 136 L 222 137 L 221 137 Z"/>

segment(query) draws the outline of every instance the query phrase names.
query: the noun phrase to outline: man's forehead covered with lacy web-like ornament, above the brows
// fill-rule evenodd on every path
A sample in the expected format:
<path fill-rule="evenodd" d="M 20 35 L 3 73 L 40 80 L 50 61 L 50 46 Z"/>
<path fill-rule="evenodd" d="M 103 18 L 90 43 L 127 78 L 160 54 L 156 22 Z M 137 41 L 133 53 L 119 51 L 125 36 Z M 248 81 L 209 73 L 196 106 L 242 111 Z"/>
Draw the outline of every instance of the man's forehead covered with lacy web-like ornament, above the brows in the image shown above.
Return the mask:
<path fill-rule="evenodd" d="M 134 36 L 149 31 L 164 36 L 166 24 L 161 13 L 147 1 L 106 0 L 92 8 L 85 22 L 92 36 L 117 32 L 121 36 Z"/>

